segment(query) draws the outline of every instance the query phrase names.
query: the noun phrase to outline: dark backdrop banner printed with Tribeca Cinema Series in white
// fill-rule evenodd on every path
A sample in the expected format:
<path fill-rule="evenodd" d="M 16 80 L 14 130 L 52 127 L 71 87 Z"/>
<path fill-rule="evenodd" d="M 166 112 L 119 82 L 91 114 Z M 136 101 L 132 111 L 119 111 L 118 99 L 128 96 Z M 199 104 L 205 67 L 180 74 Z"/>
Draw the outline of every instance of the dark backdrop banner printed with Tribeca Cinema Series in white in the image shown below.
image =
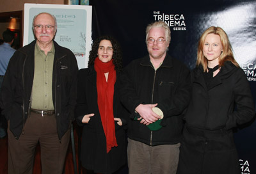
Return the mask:
<path fill-rule="evenodd" d="M 252 0 L 94 0 L 92 38 L 112 35 L 124 54 L 124 65 L 147 54 L 147 24 L 163 20 L 170 26 L 172 40 L 168 54 L 189 68 L 196 63 L 196 49 L 202 32 L 210 26 L 223 28 L 234 56 L 250 82 L 256 102 L 256 1 Z M 241 173 L 256 173 L 256 123 L 235 130 Z"/>

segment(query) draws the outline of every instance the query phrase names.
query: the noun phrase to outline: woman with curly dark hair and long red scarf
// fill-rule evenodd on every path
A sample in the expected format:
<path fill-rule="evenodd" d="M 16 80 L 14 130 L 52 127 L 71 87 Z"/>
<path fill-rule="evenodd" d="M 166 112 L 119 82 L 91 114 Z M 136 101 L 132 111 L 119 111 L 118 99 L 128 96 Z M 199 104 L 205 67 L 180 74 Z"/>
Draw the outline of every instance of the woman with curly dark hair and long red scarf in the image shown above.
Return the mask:
<path fill-rule="evenodd" d="M 93 42 L 88 68 L 78 73 L 76 119 L 83 126 L 81 164 L 91 172 L 114 173 L 127 159 L 125 110 L 117 90 L 121 70 L 118 43 L 111 36 L 100 36 Z"/>

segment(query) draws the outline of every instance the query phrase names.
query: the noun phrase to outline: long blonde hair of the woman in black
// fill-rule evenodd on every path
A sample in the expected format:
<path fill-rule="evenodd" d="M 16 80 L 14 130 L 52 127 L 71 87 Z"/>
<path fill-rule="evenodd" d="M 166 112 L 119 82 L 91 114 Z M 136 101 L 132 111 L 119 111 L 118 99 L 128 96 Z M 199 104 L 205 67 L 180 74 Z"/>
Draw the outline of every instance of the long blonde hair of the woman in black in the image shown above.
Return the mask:
<path fill-rule="evenodd" d="M 199 42 L 198 42 L 198 48 L 197 48 L 197 59 L 196 59 L 196 67 L 199 65 L 202 65 L 204 68 L 204 72 L 207 70 L 207 64 L 208 61 L 204 56 L 204 41 L 207 35 L 214 34 L 220 36 L 220 42 L 223 47 L 223 52 L 220 54 L 219 58 L 219 67 L 222 67 L 225 63 L 225 61 L 231 61 L 236 67 L 239 67 L 239 64 L 237 63 L 236 59 L 234 59 L 234 55 L 232 52 L 232 46 L 228 40 L 227 33 L 220 28 L 220 27 L 214 27 L 211 26 L 210 28 L 207 28 L 204 33 L 200 36 Z"/>

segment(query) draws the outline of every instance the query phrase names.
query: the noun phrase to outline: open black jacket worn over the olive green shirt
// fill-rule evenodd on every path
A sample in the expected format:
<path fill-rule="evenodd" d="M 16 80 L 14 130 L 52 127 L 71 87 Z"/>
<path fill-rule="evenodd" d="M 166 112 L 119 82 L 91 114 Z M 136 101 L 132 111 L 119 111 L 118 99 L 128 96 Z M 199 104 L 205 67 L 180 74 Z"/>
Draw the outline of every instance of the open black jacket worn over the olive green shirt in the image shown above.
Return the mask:
<path fill-rule="evenodd" d="M 73 52 L 54 42 L 52 72 L 52 102 L 54 104 L 58 137 L 70 127 L 76 106 L 76 75 L 78 71 Z M 8 64 L 1 88 L 1 108 L 10 131 L 19 139 L 29 115 L 29 100 L 33 86 L 36 40 L 17 50 Z"/>

